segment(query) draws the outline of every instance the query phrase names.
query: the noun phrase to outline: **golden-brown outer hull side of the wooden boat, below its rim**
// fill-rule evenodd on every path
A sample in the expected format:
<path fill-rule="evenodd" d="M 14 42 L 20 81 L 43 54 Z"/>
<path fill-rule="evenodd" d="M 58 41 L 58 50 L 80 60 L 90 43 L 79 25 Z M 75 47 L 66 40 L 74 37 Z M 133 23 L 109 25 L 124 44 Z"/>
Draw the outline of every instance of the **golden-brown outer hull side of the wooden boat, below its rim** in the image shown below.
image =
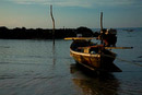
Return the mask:
<path fill-rule="evenodd" d="M 116 54 L 107 50 L 109 55 L 104 55 L 102 54 L 84 54 L 84 52 L 79 52 L 70 49 L 70 55 L 73 57 L 73 59 L 76 61 L 76 63 L 80 63 L 82 66 L 85 66 L 86 68 L 91 70 L 99 70 L 99 71 L 105 71 L 108 69 L 108 67 L 114 66 L 114 60 L 116 58 Z M 107 69 L 106 69 L 107 68 Z"/>

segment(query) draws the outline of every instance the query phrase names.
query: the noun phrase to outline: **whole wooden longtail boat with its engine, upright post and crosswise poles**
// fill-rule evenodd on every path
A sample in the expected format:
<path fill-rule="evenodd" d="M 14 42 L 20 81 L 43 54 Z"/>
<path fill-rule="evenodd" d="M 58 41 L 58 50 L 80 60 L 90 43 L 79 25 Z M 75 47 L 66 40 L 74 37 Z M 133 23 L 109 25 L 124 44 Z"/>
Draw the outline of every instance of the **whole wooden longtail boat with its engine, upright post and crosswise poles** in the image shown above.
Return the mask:
<path fill-rule="evenodd" d="M 103 16 L 103 13 L 102 13 Z M 132 47 L 116 47 L 117 31 L 105 29 L 102 25 L 100 16 L 100 33 L 97 38 L 82 37 L 67 37 L 64 39 L 72 39 L 70 45 L 70 56 L 78 64 L 81 64 L 90 70 L 99 72 L 121 72 L 121 70 L 114 63 L 117 55 L 111 49 L 131 49 Z M 100 44 L 93 43 L 92 39 L 100 40 Z"/>

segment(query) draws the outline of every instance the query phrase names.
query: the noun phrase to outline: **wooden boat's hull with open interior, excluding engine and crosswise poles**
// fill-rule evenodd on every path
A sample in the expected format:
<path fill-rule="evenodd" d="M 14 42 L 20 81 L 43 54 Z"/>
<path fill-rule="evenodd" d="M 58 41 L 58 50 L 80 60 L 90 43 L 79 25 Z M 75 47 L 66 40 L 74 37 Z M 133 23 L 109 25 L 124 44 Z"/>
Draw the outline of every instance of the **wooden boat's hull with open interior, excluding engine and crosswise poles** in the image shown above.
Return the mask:
<path fill-rule="evenodd" d="M 103 45 L 95 45 L 87 39 L 74 39 L 70 46 L 70 55 L 76 61 L 91 70 L 106 71 L 114 66 L 116 54 L 105 49 Z"/>

